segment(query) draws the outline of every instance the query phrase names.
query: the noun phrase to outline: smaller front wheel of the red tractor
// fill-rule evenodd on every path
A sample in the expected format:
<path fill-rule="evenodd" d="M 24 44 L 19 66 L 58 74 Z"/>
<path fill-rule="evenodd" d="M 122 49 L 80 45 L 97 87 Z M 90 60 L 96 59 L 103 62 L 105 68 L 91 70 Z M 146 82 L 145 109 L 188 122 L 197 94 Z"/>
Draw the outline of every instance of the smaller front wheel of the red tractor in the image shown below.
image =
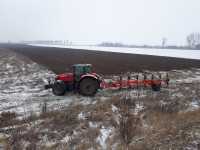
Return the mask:
<path fill-rule="evenodd" d="M 52 92 L 56 96 L 63 96 L 66 92 L 66 86 L 64 82 L 56 82 L 52 86 Z"/>

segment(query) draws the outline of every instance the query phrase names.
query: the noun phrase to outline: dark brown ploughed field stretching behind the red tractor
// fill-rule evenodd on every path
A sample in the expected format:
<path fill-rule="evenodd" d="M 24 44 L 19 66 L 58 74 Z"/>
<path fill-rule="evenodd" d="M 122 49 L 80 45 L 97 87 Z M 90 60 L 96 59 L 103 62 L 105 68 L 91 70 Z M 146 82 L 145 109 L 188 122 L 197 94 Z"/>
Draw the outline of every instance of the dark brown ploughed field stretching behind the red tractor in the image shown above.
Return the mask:
<path fill-rule="evenodd" d="M 119 74 L 121 72 L 142 70 L 168 71 L 200 67 L 199 60 L 191 59 L 16 44 L 0 44 L 0 47 L 12 49 L 28 56 L 33 61 L 48 67 L 55 73 L 66 71 L 66 68 L 70 68 L 72 64 L 76 63 L 93 64 L 94 71 L 102 74 Z"/>

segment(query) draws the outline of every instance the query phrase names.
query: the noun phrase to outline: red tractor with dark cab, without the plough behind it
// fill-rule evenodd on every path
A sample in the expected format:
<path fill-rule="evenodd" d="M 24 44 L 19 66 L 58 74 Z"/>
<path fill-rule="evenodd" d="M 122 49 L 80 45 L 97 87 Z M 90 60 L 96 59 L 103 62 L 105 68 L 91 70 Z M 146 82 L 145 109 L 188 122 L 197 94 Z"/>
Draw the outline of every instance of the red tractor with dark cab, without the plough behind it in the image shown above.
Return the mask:
<path fill-rule="evenodd" d="M 92 72 L 92 65 L 76 64 L 72 68 L 72 73 L 57 75 L 53 83 L 45 85 L 45 89 L 52 88 L 53 94 L 58 96 L 67 91 L 77 91 L 84 96 L 95 95 L 100 88 L 101 77 Z"/>

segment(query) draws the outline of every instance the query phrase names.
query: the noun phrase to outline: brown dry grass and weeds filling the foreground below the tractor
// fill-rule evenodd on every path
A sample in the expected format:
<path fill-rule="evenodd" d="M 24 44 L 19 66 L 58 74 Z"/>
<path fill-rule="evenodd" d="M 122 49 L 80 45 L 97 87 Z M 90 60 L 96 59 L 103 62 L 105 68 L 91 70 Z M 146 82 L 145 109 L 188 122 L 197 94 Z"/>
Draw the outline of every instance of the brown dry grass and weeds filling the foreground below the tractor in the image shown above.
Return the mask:
<path fill-rule="evenodd" d="M 140 100 L 144 102 L 145 98 Z M 101 149 L 97 138 L 101 134 L 102 126 L 114 129 L 115 132 L 108 137 L 107 144 L 108 148 L 109 145 L 112 148 L 112 145 L 117 144 L 119 150 L 181 149 L 194 141 L 194 134 L 200 134 L 200 110 L 178 112 L 166 111 L 168 109 L 164 108 L 163 111 L 162 107 L 165 106 L 161 107 L 159 101 L 156 103 L 155 99 L 153 100 L 151 105 L 145 105 L 145 110 L 138 114 L 134 113 L 137 99 L 119 97 L 99 100 L 86 106 L 71 105 L 64 110 L 44 112 L 40 116 L 32 116 L 27 118 L 26 122 L 23 121 L 27 123 L 42 120 L 40 123 L 29 123 L 28 127 L 22 125 L 13 129 L 7 147 L 21 149 L 26 141 L 29 143 L 27 149 Z M 117 108 L 116 112 L 113 112 L 112 106 Z M 80 113 L 85 115 L 84 119 L 78 118 Z M 2 116 L 7 115 L 10 116 L 10 121 L 15 118 L 11 114 Z M 89 122 L 96 126 L 91 127 Z M 67 143 L 60 142 L 66 135 L 71 139 Z M 41 137 L 44 136 L 57 143 L 50 147 L 34 144 L 41 142 Z"/>

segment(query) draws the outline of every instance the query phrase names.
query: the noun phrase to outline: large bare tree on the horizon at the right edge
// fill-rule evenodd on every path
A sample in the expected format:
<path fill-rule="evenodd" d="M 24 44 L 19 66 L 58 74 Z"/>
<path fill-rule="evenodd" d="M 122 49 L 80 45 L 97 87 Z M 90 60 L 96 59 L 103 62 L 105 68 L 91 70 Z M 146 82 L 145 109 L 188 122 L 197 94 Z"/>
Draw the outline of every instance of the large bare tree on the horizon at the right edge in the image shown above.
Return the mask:
<path fill-rule="evenodd" d="M 188 46 L 191 48 L 196 48 L 197 45 L 200 45 L 200 33 L 191 33 L 187 36 Z"/>

